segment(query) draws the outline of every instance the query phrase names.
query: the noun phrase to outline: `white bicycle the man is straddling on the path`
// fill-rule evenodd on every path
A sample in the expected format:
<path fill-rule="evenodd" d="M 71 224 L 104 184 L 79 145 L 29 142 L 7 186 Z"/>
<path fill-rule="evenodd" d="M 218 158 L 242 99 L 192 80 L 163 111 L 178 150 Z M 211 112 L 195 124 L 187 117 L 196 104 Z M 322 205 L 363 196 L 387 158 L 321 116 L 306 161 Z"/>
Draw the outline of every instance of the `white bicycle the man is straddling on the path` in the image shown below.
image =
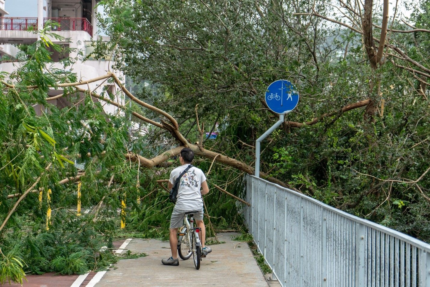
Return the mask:
<path fill-rule="evenodd" d="M 193 215 L 198 211 L 190 211 L 185 213 L 184 226 L 178 232 L 178 254 L 182 260 L 187 260 L 191 257 L 194 258 L 194 266 L 199 270 L 200 261 L 202 257 L 206 257 L 202 253 L 202 244 L 200 243 L 199 233 L 202 232 L 200 227 L 194 227 Z M 188 221 L 190 215 L 190 221 Z"/>

